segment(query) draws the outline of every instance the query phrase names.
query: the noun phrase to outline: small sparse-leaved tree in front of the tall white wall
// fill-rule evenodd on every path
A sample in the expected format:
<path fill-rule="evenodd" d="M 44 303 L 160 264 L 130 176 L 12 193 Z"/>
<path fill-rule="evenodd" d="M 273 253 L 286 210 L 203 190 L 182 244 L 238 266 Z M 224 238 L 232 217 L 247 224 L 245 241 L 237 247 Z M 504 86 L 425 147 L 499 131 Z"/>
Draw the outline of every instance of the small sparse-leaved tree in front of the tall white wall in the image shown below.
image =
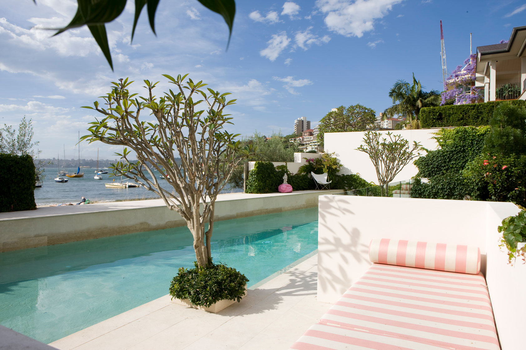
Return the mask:
<path fill-rule="evenodd" d="M 420 152 L 414 154 L 421 145 L 413 141 L 413 147 L 409 146 L 409 141 L 402 138 L 400 135 L 393 135 L 391 132 L 387 133 L 387 138 L 382 137 L 381 132 L 368 131 L 363 137 L 364 145 L 357 148 L 358 151 L 366 152 L 369 155 L 372 163 L 376 168 L 376 176 L 378 184 L 382 190 L 380 195 L 383 195 L 383 188 L 385 187 L 385 195 L 387 196 L 388 185 L 396 175 L 405 167 L 411 160 L 420 156 Z"/>

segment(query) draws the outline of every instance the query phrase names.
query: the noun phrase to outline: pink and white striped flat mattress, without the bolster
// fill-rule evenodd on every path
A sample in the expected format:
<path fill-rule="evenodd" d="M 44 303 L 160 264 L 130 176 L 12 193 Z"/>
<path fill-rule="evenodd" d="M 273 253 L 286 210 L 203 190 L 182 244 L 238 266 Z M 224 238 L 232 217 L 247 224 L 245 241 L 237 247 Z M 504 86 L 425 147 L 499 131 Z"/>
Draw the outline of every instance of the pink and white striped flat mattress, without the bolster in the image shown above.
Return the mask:
<path fill-rule="evenodd" d="M 372 264 L 291 349 L 500 349 L 482 274 Z"/>

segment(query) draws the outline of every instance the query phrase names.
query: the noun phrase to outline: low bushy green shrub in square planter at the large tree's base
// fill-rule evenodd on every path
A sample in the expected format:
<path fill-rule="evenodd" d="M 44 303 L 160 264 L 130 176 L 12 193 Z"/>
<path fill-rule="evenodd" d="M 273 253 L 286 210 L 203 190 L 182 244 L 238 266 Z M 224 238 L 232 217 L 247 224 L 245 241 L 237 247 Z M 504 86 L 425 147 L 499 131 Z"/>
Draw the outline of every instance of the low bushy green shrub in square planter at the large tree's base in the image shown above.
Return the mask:
<path fill-rule="evenodd" d="M 225 307 L 239 303 L 247 294 L 247 277 L 225 264 L 181 267 L 170 284 L 171 300 L 200 310 L 217 313 Z"/>

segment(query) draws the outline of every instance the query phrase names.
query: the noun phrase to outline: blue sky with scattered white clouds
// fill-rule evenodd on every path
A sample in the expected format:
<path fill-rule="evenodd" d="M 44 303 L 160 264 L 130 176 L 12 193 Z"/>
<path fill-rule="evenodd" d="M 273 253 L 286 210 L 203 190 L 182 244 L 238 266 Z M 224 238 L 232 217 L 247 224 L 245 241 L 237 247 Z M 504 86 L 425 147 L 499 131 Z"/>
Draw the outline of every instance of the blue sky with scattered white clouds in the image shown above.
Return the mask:
<path fill-rule="evenodd" d="M 51 37 L 76 12 L 73 0 L 18 0 L 0 4 L 0 125 L 33 120 L 42 158 L 77 157 L 78 132 L 98 117 L 92 106 L 112 81 L 189 74 L 210 88 L 231 92 L 237 104 L 229 132 L 264 135 L 294 130 L 306 116 L 312 126 L 338 106 L 361 104 L 377 114 L 392 105 L 389 89 L 412 74 L 426 90 L 442 89 L 440 20 L 448 71 L 477 46 L 507 40 L 526 25 L 524 1 L 450 0 L 236 1 L 228 50 L 221 16 L 196 0 L 163 0 L 157 36 L 144 11 L 130 43 L 134 2 L 107 25 L 114 68 L 108 66 L 86 27 Z M 81 158 L 115 159 L 102 142 L 80 146 Z"/>

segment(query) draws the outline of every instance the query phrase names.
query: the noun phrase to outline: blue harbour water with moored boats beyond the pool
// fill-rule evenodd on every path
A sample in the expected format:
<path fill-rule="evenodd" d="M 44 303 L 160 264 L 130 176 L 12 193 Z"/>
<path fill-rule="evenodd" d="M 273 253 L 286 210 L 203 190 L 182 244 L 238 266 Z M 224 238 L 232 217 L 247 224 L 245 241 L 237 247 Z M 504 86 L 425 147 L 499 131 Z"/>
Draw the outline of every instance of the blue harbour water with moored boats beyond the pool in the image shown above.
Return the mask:
<path fill-rule="evenodd" d="M 77 168 L 67 168 L 68 173 L 76 173 Z M 95 180 L 95 168 L 83 168 L 80 172 L 84 172 L 83 178 L 68 178 L 68 182 L 55 182 L 56 169 L 46 169 L 44 173 L 45 179 L 43 186 L 35 189 L 35 202 L 37 207 L 44 207 L 50 204 L 60 203 L 78 203 L 84 196 L 90 201 L 116 201 L 116 200 L 133 200 L 133 199 L 148 199 L 157 198 L 154 192 L 148 191 L 143 187 L 137 188 L 106 188 L 104 183 L 120 182 L 120 177 L 110 177 L 110 173 L 102 174 L 102 180 Z M 158 174 L 160 176 L 160 174 Z M 161 180 L 157 177 L 161 187 L 173 192 L 173 187 L 166 180 Z M 123 182 L 133 182 L 123 177 Z M 225 187 L 225 193 L 242 192 L 242 189 L 231 189 Z"/>

